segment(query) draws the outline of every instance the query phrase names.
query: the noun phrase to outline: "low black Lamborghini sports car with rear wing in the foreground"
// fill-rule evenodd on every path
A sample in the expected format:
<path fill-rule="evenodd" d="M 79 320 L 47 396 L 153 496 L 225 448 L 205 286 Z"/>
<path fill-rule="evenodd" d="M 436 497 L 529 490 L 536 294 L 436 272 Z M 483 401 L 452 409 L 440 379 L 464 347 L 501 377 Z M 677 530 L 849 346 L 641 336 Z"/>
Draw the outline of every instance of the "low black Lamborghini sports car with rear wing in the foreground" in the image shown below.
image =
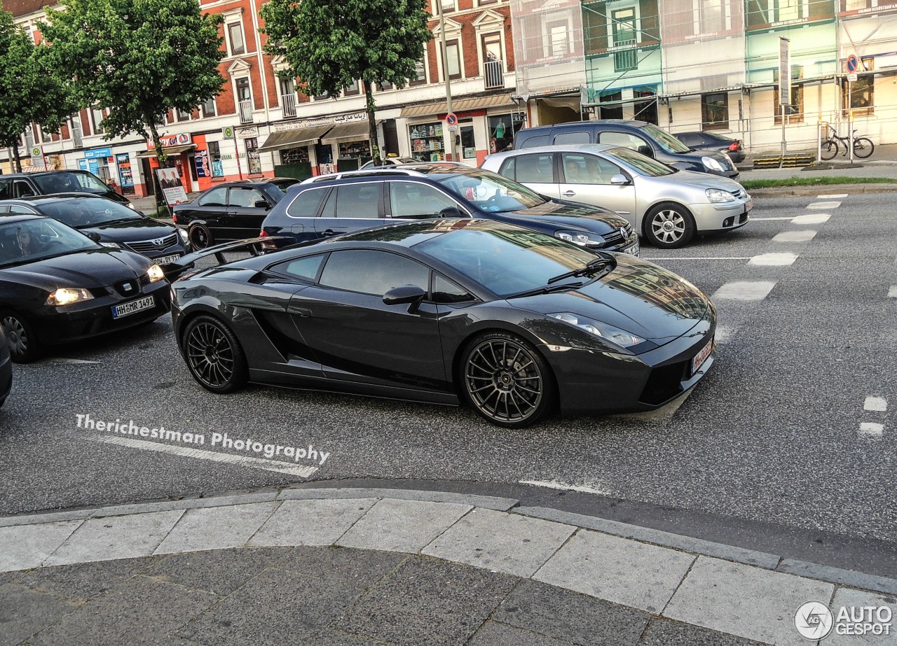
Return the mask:
<path fill-rule="evenodd" d="M 172 289 L 179 349 L 212 392 L 251 380 L 460 400 L 527 426 L 556 407 L 656 408 L 714 360 L 716 313 L 691 283 L 492 220 L 369 229 L 187 274 Z"/>

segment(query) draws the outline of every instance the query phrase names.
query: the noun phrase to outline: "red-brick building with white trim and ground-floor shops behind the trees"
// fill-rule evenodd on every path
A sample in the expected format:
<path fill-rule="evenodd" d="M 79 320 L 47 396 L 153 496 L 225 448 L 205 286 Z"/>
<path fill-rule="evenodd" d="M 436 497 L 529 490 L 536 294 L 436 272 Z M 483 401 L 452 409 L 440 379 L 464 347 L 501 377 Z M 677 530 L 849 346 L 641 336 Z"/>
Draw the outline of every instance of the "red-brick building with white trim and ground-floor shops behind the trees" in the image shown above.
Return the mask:
<path fill-rule="evenodd" d="M 431 0 L 433 33 L 417 67 L 418 79 L 403 89 L 377 88 L 381 151 L 416 159 L 478 163 L 509 145 L 522 124 L 514 94 L 513 39 L 507 0 Z M 36 41 L 37 23 L 55 0 L 3 0 L 4 10 Z M 191 113 L 169 113 L 160 133 L 187 192 L 239 177 L 308 177 L 357 168 L 370 159 L 363 90 L 359 83 L 335 97 L 308 97 L 292 80 L 279 78 L 283 62 L 263 52 L 260 0 L 200 0 L 206 13 L 222 16 L 219 67 L 222 92 Z M 442 63 L 439 13 L 444 12 L 447 60 Z M 444 127 L 448 73 L 457 131 Z M 135 80 L 135 90 L 139 80 Z M 102 139 L 97 109 L 81 110 L 58 134 L 33 126 L 22 136 L 22 165 L 85 168 L 125 193 L 152 193 L 148 181 L 157 160 L 152 143 L 139 136 Z M 233 129 L 225 138 L 222 130 Z M 31 151 L 39 149 L 39 154 Z M 10 170 L 9 151 L 0 169 Z"/>

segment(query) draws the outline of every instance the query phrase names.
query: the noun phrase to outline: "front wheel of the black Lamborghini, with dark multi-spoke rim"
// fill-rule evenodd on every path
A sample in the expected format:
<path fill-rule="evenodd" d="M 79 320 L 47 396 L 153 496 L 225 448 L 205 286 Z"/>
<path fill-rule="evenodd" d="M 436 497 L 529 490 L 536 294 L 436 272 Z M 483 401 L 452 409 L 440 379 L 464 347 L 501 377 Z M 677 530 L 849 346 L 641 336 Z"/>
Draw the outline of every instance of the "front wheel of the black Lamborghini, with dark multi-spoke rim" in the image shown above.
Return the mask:
<path fill-rule="evenodd" d="M 471 340 L 457 378 L 476 414 L 506 428 L 536 424 L 557 401 L 551 367 L 532 344 L 508 332 L 485 332 Z"/>

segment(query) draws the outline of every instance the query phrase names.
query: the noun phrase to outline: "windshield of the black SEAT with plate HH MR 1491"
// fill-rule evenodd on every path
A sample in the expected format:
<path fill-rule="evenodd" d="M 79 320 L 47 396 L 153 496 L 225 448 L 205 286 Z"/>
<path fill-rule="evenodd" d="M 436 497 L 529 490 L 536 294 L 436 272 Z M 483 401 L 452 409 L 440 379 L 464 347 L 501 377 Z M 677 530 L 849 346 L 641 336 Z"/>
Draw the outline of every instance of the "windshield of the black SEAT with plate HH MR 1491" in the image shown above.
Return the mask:
<path fill-rule="evenodd" d="M 100 245 L 89 237 L 55 220 L 20 220 L 0 224 L 0 267 L 99 248 Z"/>

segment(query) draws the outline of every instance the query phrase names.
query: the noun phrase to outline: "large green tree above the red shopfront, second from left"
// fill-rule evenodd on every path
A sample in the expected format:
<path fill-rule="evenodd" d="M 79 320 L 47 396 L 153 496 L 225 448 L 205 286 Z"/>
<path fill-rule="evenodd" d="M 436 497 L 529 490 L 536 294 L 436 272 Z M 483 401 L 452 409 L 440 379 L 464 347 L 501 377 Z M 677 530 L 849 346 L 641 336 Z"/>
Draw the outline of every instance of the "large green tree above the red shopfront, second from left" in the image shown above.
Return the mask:
<path fill-rule="evenodd" d="M 221 16 L 200 13 L 197 0 L 62 4 L 48 10 L 40 29 L 60 69 L 72 74 L 79 104 L 109 109 L 104 139 L 152 137 L 164 167 L 156 124 L 169 110 L 190 112 L 222 90 Z"/>

